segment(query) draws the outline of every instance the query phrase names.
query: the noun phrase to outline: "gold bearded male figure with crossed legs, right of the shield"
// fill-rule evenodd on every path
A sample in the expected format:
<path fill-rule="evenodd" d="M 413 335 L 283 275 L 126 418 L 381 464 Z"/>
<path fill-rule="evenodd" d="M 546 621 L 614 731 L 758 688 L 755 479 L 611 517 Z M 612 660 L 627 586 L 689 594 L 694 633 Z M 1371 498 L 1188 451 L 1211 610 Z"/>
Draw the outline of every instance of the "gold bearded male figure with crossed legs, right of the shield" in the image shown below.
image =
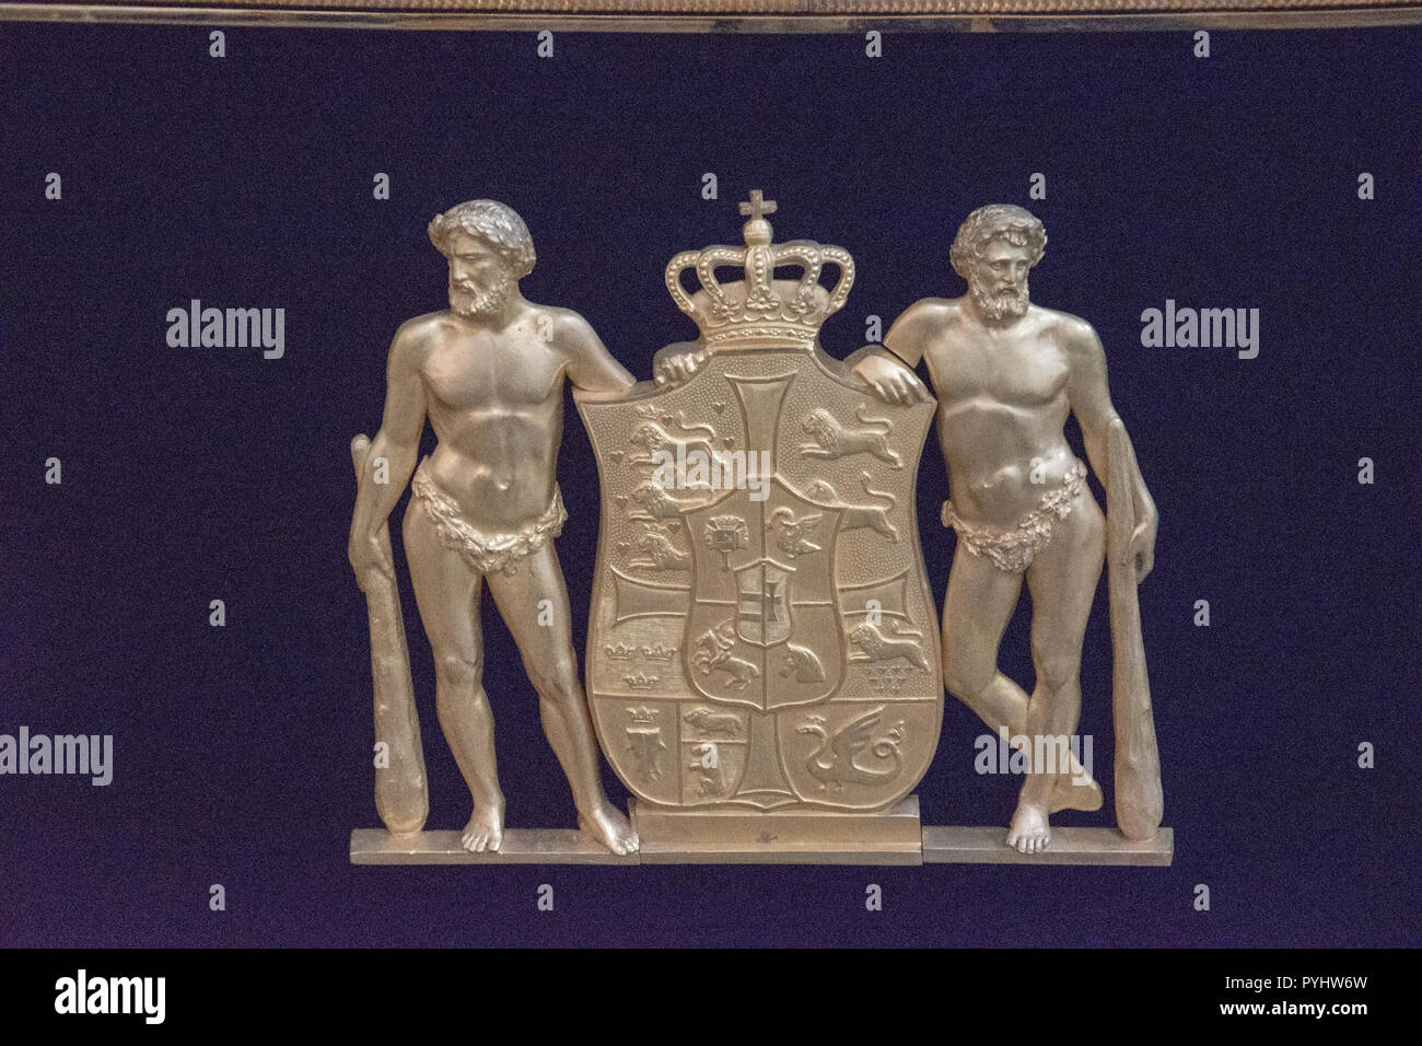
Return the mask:
<path fill-rule="evenodd" d="M 1022 208 L 978 208 L 951 252 L 968 293 L 914 303 L 884 336 L 889 353 L 872 350 L 855 367 L 879 396 L 906 403 L 921 393 L 903 364 L 929 366 L 953 495 L 943 521 L 958 532 L 943 603 L 943 677 L 994 731 L 1028 739 L 1076 730 L 1082 639 L 1105 554 L 1105 518 L 1062 428 L 1075 414 L 1086 457 L 1105 477 L 1106 428 L 1116 420 L 1096 332 L 1030 303 L 1027 273 L 1045 246 L 1041 222 Z M 1155 556 L 1156 508 L 1133 461 L 1130 471 L 1139 582 Z M 997 669 L 1024 578 L 1031 696 Z M 1049 813 L 1101 807 L 1099 786 L 1076 770 L 1030 767 L 1008 845 L 1039 852 L 1051 841 Z"/>

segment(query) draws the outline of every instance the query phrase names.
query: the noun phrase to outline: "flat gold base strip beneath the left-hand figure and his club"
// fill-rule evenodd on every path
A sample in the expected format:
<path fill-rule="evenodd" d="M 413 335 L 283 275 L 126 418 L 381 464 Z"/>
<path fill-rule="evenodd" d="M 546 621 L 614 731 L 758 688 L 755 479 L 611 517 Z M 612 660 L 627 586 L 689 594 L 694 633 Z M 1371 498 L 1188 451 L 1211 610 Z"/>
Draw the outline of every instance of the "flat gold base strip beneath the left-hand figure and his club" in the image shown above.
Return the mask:
<path fill-rule="evenodd" d="M 499 850 L 482 854 L 461 847 L 458 831 L 356 828 L 351 864 L 637 864 L 637 855 L 617 857 L 576 828 L 508 828 Z"/>

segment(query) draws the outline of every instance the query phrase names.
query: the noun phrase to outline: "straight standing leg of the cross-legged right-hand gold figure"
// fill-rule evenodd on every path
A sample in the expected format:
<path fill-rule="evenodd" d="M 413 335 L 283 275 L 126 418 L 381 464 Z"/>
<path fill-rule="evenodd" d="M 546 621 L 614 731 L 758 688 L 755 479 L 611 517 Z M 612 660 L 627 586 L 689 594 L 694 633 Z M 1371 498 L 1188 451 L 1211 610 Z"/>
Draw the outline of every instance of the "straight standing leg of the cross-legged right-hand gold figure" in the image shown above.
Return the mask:
<path fill-rule="evenodd" d="M 1037 686 L 1027 707 L 1031 739 L 1066 739 L 1081 722 L 1081 646 L 1105 558 L 1105 519 L 1095 498 L 1084 492 L 1069 517 L 1057 522 L 1051 544 L 1027 569 L 1032 593 L 1032 666 Z M 1052 797 L 1082 790 L 1096 808 L 1101 790 L 1074 781 L 1078 767 L 1031 767 L 1022 784 L 1008 842 L 1038 852 L 1051 841 L 1047 824 Z M 1074 804 L 1079 805 L 1079 804 Z"/>

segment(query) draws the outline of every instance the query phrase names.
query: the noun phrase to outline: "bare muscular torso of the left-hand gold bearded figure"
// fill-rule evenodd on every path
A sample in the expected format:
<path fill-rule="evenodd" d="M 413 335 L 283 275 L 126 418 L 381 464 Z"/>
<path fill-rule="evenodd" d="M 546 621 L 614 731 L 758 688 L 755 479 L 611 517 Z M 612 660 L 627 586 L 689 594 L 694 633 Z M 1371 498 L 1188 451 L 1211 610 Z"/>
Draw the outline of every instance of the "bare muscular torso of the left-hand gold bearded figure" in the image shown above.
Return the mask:
<path fill-rule="evenodd" d="M 533 309 L 499 332 L 448 317 L 419 369 L 439 440 L 434 480 L 491 532 L 538 518 L 553 498 L 567 363 L 538 334 Z"/>

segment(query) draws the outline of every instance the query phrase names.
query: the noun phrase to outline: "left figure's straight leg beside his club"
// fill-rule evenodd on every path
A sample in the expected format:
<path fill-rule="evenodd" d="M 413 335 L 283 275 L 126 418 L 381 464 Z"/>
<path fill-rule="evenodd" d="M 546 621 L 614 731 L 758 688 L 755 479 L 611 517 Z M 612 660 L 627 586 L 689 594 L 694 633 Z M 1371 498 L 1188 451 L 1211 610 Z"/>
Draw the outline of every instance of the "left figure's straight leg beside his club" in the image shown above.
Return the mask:
<path fill-rule="evenodd" d="M 404 535 L 419 620 L 435 655 L 439 726 L 474 797 L 461 842 L 471 851 L 498 850 L 503 841 L 503 793 L 493 757 L 493 714 L 483 693 L 481 578 L 456 551 L 439 544 L 419 498 L 411 498 L 405 509 Z"/>

